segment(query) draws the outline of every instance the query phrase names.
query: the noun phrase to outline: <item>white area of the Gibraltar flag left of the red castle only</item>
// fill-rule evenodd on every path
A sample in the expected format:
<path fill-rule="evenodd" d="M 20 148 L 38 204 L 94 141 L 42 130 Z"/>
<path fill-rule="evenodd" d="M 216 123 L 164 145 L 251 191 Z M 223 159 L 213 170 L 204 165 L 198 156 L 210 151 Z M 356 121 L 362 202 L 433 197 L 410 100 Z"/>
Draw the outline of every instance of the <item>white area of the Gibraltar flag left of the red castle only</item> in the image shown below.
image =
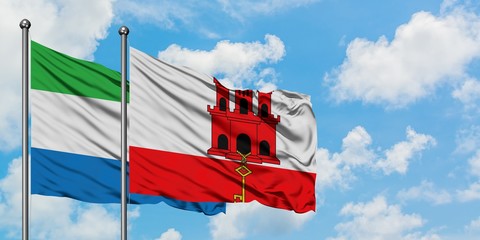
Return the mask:
<path fill-rule="evenodd" d="M 158 64 L 133 48 L 130 53 L 130 144 L 206 156 L 211 135 L 207 105 L 216 97 L 209 89 L 213 78 Z"/>

